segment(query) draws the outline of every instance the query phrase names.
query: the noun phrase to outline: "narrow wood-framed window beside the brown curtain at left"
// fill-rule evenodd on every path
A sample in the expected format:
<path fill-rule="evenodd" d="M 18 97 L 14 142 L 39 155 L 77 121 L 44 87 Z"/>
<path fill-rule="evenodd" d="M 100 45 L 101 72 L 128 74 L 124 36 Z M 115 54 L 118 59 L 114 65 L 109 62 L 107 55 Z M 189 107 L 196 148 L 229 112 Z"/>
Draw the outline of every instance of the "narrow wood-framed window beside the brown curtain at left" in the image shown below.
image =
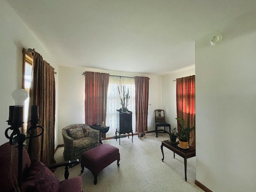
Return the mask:
<path fill-rule="evenodd" d="M 30 83 L 31 83 L 31 74 L 32 74 L 32 64 L 33 64 L 33 56 L 30 52 L 23 48 L 23 82 L 22 88 L 25 89 L 28 93 L 30 91 Z M 23 118 L 24 124 L 22 128 L 22 132 L 26 133 L 28 126 L 28 109 L 29 109 L 29 97 L 24 102 L 24 111 Z"/>

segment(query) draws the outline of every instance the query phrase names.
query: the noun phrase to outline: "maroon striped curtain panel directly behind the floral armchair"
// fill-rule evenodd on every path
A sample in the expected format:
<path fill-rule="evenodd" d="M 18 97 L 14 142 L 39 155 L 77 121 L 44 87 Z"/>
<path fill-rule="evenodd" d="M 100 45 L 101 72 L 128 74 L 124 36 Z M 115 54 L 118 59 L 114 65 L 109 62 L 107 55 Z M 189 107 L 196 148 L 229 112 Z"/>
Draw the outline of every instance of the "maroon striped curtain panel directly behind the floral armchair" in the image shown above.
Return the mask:
<path fill-rule="evenodd" d="M 101 124 L 102 121 L 106 124 L 109 74 L 86 71 L 84 76 L 85 124 Z"/>

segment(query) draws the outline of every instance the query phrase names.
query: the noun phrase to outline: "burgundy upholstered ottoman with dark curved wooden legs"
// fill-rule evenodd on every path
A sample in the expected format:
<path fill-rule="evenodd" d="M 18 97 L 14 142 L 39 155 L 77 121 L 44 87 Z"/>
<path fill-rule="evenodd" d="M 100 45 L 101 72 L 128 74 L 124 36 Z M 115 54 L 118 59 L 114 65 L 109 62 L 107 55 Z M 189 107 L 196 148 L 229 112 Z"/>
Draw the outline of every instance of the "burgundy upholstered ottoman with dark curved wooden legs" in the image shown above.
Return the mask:
<path fill-rule="evenodd" d="M 117 160 L 117 166 L 119 166 L 119 149 L 110 144 L 104 143 L 82 153 L 81 173 L 84 172 L 84 167 L 88 168 L 94 176 L 94 184 L 97 184 L 97 177 L 100 171 L 115 160 Z"/>

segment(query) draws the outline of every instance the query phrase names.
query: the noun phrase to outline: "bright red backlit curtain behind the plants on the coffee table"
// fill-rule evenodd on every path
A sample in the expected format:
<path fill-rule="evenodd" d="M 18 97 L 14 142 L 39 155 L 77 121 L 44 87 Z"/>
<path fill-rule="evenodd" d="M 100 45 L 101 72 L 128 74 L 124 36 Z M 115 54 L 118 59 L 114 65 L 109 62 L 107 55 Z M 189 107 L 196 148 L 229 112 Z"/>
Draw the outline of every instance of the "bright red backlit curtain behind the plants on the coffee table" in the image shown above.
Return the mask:
<path fill-rule="evenodd" d="M 189 127 L 196 127 L 194 75 L 176 79 L 176 102 L 177 118 L 183 118 Z M 196 147 L 195 130 L 190 133 L 190 137 L 189 145 Z"/>

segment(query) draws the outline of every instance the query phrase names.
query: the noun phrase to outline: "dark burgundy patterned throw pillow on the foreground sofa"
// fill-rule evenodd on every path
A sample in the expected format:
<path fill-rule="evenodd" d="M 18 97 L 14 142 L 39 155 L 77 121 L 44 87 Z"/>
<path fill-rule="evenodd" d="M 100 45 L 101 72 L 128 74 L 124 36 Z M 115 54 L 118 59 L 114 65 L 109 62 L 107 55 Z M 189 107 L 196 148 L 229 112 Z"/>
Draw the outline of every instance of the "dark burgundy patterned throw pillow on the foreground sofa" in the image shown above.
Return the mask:
<path fill-rule="evenodd" d="M 56 192 L 60 188 L 60 180 L 42 162 L 31 163 L 25 182 L 21 184 L 23 192 Z"/>

